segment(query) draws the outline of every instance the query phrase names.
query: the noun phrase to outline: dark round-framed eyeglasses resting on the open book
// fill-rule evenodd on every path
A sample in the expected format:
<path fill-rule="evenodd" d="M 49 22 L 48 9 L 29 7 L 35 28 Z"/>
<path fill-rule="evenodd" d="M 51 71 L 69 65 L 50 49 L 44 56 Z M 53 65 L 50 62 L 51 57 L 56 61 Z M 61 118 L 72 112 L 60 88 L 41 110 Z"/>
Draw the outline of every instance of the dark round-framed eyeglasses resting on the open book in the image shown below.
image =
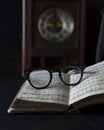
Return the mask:
<path fill-rule="evenodd" d="M 81 82 L 85 67 L 68 66 L 65 68 L 32 69 L 25 70 L 22 77 L 29 81 L 30 85 L 36 89 L 43 89 L 49 86 L 52 80 L 52 73 L 58 72 L 61 81 L 65 85 L 77 85 Z M 71 80 L 74 78 L 74 80 Z"/>

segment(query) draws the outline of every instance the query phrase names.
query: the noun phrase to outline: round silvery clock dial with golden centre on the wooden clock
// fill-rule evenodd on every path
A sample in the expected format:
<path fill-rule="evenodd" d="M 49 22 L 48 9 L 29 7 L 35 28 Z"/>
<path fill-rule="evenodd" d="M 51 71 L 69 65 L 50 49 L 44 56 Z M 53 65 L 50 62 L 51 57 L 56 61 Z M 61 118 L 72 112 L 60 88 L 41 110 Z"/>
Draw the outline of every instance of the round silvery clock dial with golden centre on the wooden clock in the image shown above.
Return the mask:
<path fill-rule="evenodd" d="M 60 8 L 48 8 L 39 17 L 38 31 L 51 43 L 60 43 L 74 31 L 73 16 Z"/>

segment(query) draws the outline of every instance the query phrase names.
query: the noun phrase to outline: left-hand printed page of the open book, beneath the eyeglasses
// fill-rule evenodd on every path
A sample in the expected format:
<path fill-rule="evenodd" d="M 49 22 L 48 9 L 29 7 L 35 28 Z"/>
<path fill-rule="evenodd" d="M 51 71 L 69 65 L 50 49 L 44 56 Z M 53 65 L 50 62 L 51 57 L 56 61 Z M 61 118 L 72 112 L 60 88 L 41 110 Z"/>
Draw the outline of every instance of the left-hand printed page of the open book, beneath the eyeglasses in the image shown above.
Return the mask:
<path fill-rule="evenodd" d="M 26 101 L 53 102 L 68 105 L 69 86 L 64 85 L 58 73 L 55 72 L 47 88 L 35 89 L 28 81 L 25 81 L 16 97 Z"/>

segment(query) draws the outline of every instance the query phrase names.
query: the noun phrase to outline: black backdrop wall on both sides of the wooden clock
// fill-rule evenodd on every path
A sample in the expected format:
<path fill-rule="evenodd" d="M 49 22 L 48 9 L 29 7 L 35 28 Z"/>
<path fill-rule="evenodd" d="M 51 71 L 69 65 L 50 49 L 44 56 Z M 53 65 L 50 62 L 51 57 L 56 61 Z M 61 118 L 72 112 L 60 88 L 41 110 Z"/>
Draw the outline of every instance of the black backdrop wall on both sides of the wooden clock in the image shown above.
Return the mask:
<path fill-rule="evenodd" d="M 21 72 L 22 1 L 9 0 L 0 4 L 0 74 Z M 87 0 L 86 65 L 95 63 L 96 45 L 101 23 L 102 0 Z"/>

